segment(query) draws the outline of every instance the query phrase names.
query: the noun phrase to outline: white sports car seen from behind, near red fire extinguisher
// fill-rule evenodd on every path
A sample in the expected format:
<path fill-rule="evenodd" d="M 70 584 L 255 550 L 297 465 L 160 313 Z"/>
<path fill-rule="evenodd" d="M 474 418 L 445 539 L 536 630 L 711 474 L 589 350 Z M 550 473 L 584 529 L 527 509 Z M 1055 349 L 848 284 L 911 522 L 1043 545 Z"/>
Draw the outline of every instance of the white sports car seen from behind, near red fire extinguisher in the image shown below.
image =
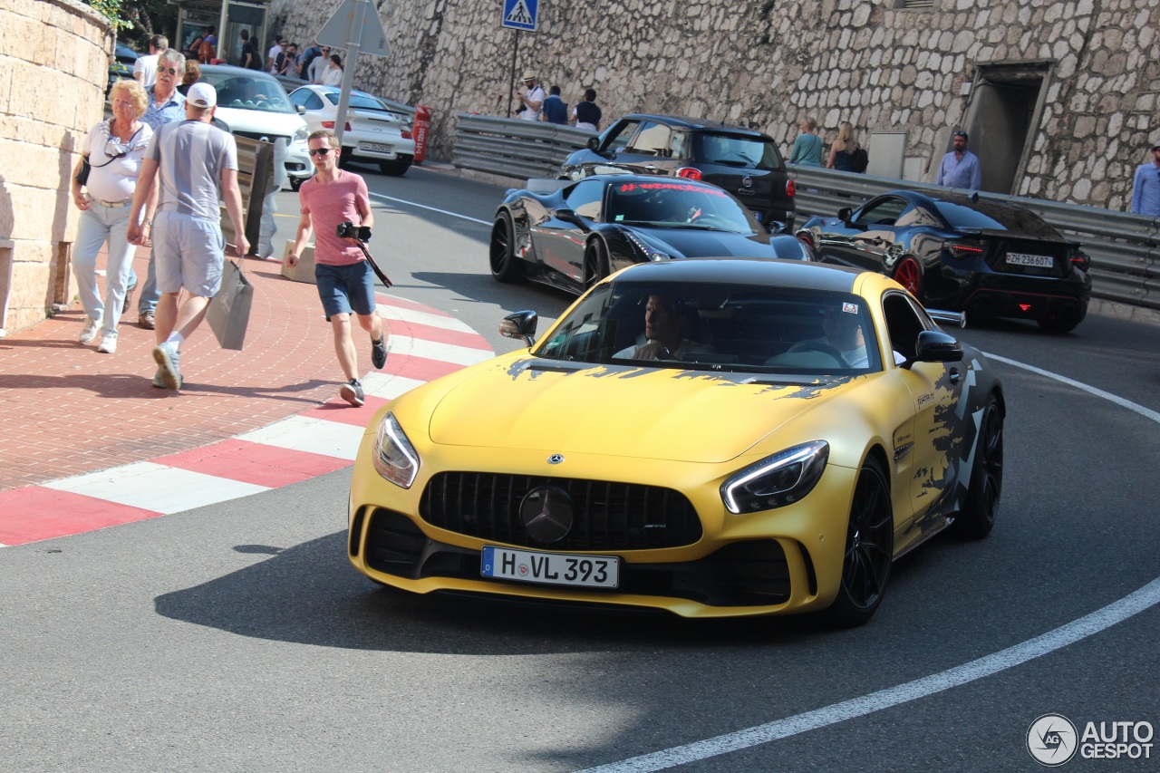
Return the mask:
<path fill-rule="evenodd" d="M 303 110 L 311 131 L 334 129 L 340 94 L 336 86 L 302 86 L 290 93 L 290 101 Z M 390 108 L 377 96 L 350 92 L 339 164 L 369 161 L 378 164 L 383 174 L 400 175 L 411 168 L 414 157 L 409 116 Z"/>

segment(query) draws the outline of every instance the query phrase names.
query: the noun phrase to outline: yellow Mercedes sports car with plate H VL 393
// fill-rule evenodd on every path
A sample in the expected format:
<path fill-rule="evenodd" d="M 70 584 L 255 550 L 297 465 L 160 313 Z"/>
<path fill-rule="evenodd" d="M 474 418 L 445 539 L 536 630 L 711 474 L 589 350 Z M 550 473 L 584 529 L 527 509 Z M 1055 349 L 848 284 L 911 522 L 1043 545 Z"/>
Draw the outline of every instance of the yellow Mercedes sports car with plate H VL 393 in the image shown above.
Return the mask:
<path fill-rule="evenodd" d="M 348 551 L 418 593 L 768 615 L 878 607 L 891 563 L 991 532 L 1003 395 L 983 355 L 877 273 L 640 263 L 539 342 L 385 406 Z"/>

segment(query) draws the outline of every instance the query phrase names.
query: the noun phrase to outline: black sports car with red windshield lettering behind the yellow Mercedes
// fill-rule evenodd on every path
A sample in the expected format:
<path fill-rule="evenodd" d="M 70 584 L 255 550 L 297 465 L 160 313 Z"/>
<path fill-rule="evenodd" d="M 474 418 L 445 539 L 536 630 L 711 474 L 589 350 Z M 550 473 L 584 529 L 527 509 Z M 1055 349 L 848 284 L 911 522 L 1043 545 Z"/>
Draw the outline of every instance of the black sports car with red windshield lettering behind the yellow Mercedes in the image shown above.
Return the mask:
<path fill-rule="evenodd" d="M 625 266 L 673 258 L 812 260 L 791 236 L 770 236 L 716 186 L 636 174 L 578 182 L 530 180 L 509 190 L 492 226 L 492 276 L 580 292 Z"/>

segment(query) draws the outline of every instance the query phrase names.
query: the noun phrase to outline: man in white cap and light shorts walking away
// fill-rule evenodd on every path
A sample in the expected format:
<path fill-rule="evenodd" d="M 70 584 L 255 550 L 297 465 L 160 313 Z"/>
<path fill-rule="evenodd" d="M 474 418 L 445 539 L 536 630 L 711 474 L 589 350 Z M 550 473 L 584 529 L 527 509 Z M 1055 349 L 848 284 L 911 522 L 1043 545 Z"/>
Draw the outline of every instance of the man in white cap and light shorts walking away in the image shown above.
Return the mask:
<path fill-rule="evenodd" d="M 129 239 L 140 244 L 137 217 L 157 185 L 153 243 L 161 298 L 157 304 L 153 385 L 159 389 L 181 389 L 181 345 L 197 330 L 210 298 L 222 287 L 225 239 L 219 201 L 225 202 L 233 224 L 238 255 L 249 251 L 238 189 L 238 145 L 233 135 L 211 123 L 216 107 L 212 86 L 200 82 L 189 87 L 186 121 L 162 125 L 145 151 L 129 214 Z M 187 295 L 179 304 L 182 289 Z"/>

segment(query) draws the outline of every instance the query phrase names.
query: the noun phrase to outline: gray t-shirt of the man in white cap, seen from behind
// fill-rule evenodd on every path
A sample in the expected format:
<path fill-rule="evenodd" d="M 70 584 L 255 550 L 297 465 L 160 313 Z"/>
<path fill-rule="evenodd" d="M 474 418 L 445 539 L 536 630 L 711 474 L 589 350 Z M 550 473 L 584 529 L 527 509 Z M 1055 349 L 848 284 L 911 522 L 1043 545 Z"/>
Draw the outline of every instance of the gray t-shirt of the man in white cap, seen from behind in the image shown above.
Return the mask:
<path fill-rule="evenodd" d="M 161 125 L 145 151 L 161 178 L 158 210 L 222 219 L 222 169 L 238 168 L 233 135 L 203 121 Z"/>

